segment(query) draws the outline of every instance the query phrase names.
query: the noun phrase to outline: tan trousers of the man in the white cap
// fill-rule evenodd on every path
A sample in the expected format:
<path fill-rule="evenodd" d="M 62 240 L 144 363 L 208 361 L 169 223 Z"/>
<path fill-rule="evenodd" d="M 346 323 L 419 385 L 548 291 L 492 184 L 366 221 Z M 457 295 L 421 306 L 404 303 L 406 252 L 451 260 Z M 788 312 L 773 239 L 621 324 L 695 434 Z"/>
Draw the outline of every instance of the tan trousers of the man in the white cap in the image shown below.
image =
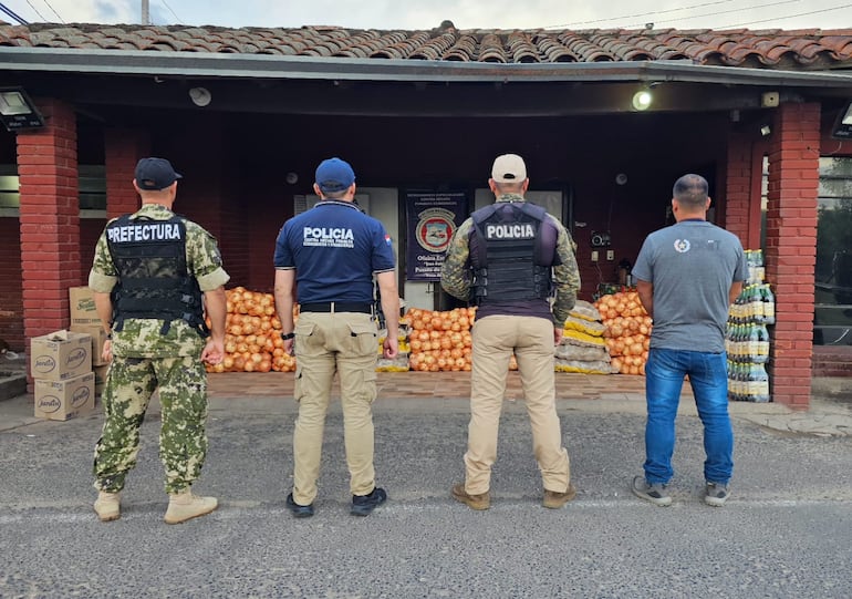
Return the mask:
<path fill-rule="evenodd" d="M 490 316 L 475 322 L 472 337 L 465 490 L 479 495 L 490 487 L 506 378 L 515 351 L 543 486 L 565 492 L 570 464 L 555 407 L 553 323 L 537 317 Z"/>

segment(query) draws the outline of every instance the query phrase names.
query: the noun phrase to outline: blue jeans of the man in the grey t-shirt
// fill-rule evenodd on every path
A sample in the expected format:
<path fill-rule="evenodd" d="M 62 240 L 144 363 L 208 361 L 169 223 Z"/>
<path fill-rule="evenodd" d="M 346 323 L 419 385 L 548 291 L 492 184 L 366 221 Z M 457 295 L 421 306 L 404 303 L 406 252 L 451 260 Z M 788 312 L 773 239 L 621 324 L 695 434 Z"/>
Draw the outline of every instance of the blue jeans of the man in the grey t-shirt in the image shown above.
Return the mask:
<path fill-rule="evenodd" d="M 725 352 L 651 349 L 645 364 L 645 479 L 667 484 L 674 475 L 675 417 L 684 376 L 695 395 L 704 424 L 704 478 L 724 485 L 734 471 L 734 431 L 728 415 L 728 373 Z"/>

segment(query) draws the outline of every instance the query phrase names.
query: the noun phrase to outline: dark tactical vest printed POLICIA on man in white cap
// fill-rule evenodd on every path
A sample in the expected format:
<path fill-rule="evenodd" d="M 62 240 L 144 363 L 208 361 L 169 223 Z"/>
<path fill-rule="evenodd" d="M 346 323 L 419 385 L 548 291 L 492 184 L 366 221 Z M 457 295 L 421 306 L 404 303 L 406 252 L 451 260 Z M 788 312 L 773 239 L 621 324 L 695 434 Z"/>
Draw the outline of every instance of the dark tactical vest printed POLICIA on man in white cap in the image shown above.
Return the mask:
<path fill-rule="evenodd" d="M 540 206 L 500 203 L 471 215 L 472 301 L 489 302 L 546 299 L 551 290 L 550 264 L 542 260 L 539 230 L 547 211 Z M 552 248 L 551 248 L 552 255 Z"/>

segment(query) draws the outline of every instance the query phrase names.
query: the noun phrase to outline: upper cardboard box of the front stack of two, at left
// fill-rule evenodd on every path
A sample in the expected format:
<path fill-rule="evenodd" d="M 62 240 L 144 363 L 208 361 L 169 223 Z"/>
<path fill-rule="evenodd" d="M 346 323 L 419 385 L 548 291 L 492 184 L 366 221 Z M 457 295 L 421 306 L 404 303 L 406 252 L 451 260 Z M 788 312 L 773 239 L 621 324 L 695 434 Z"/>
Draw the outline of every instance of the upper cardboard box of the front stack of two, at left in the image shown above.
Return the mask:
<path fill-rule="evenodd" d="M 92 335 L 55 331 L 35 337 L 30 347 L 33 379 L 66 381 L 92 372 Z"/>

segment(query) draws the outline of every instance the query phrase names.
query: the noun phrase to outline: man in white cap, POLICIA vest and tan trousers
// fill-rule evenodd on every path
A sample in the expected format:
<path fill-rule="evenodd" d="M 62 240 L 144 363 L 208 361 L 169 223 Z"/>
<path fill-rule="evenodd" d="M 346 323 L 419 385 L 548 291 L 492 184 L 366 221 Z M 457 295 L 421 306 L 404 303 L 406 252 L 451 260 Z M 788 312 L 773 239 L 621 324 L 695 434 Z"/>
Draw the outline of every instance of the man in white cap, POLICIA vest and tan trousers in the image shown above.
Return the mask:
<path fill-rule="evenodd" d="M 562 446 L 553 364 L 553 348 L 562 340 L 580 289 L 574 242 L 559 220 L 524 202 L 529 179 L 520 156 L 499 156 L 488 185 L 497 203 L 461 224 L 441 267 L 441 287 L 478 306 L 465 482 L 451 494 L 472 509 L 490 507 L 491 466 L 515 353 L 544 487 L 543 505 L 560 508 L 576 493 Z"/>

